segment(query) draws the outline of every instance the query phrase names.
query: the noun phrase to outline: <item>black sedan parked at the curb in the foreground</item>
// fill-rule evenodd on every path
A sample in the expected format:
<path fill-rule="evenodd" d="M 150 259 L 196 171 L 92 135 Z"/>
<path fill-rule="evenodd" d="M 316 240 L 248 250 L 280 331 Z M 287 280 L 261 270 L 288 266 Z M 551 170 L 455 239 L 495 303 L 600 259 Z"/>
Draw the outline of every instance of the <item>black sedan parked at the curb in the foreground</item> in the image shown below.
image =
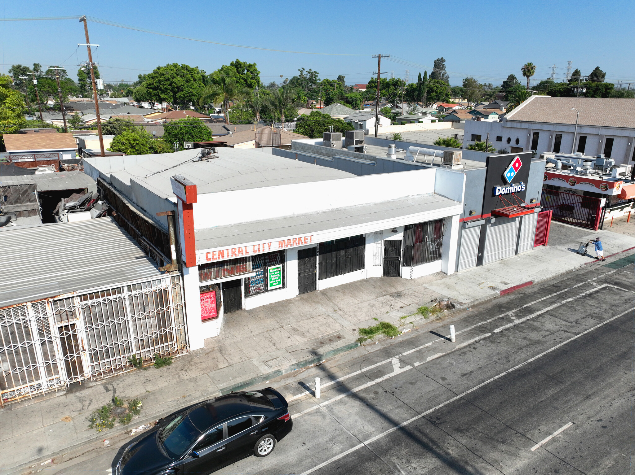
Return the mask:
<path fill-rule="evenodd" d="M 116 475 L 201 475 L 255 455 L 291 432 L 288 404 L 272 387 L 186 407 L 160 419 L 116 460 Z"/>

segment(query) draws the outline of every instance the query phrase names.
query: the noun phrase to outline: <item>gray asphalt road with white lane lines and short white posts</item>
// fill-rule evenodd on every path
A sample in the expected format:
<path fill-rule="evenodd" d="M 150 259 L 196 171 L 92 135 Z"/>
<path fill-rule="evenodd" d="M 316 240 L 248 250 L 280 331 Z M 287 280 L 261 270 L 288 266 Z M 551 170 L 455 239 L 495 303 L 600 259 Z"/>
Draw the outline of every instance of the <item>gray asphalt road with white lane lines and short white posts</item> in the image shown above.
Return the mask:
<path fill-rule="evenodd" d="M 272 382 L 293 432 L 217 473 L 629 474 L 633 277 L 594 265 Z M 121 443 L 22 473 L 107 475 Z"/>

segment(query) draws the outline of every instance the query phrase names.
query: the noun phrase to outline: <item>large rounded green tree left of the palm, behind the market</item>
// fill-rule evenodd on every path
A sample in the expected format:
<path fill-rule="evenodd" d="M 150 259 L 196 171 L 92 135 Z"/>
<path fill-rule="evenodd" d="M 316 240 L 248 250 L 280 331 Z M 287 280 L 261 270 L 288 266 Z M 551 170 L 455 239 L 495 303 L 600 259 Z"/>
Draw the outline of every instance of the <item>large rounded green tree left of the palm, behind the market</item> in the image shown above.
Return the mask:
<path fill-rule="evenodd" d="M 206 82 L 203 70 L 172 63 L 155 68 L 145 78 L 144 86 L 152 100 L 186 107 L 199 101 Z"/>

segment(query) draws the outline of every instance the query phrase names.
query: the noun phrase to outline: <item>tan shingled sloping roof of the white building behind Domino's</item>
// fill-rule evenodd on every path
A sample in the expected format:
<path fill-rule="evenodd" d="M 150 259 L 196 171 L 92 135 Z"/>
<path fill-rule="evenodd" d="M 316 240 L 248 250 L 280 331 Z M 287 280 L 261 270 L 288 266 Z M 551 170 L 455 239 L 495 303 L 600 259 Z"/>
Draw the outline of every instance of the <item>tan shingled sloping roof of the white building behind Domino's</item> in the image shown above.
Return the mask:
<path fill-rule="evenodd" d="M 507 114 L 507 120 L 635 129 L 635 99 L 531 96 Z"/>

